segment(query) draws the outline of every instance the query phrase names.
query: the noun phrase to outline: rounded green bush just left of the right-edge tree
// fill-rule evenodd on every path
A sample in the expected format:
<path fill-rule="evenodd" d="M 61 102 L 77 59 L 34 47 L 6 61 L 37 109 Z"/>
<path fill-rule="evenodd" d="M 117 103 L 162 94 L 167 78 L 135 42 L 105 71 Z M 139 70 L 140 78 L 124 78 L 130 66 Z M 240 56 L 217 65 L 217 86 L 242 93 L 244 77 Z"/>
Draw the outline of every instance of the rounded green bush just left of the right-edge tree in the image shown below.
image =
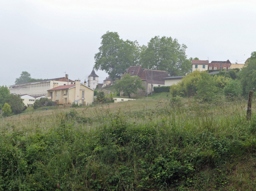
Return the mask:
<path fill-rule="evenodd" d="M 236 80 L 230 80 L 223 89 L 224 95 L 227 98 L 236 100 L 242 94 L 241 82 Z"/>

